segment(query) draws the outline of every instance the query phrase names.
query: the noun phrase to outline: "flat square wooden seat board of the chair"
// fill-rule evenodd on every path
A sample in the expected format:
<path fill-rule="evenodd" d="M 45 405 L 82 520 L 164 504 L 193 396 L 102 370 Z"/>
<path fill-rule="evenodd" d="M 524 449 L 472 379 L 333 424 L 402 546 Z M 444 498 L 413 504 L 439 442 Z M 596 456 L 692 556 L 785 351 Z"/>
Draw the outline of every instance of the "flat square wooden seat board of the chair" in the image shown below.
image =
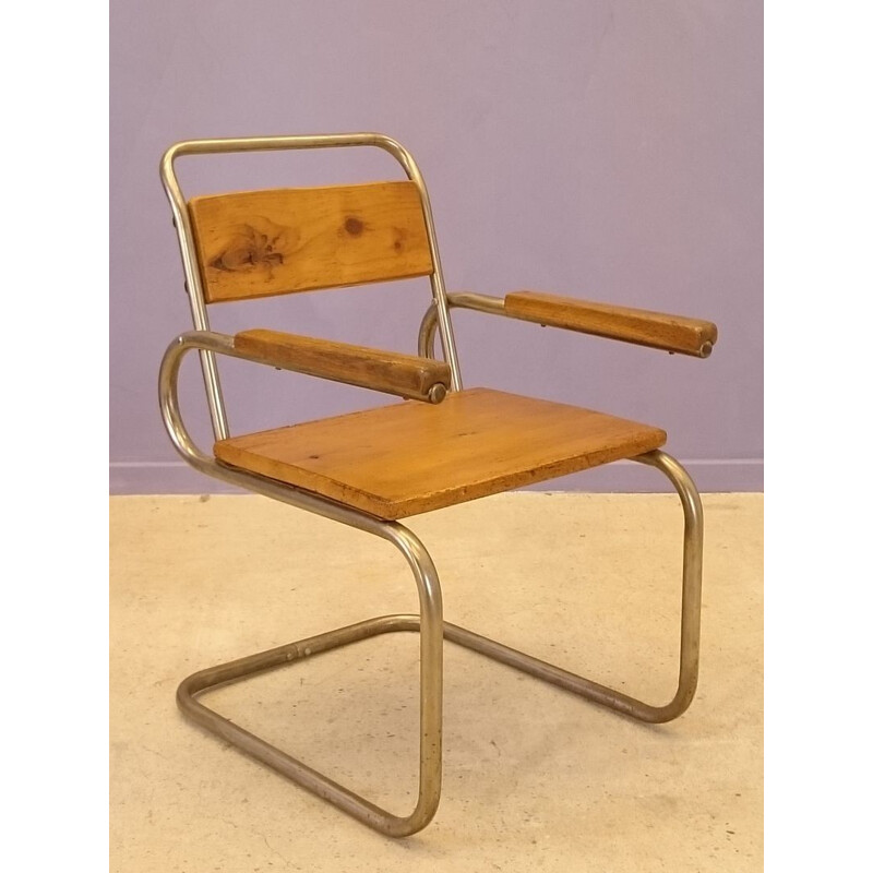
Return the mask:
<path fill-rule="evenodd" d="M 633 457 L 658 428 L 489 388 L 406 400 L 215 444 L 224 464 L 404 518 Z"/>

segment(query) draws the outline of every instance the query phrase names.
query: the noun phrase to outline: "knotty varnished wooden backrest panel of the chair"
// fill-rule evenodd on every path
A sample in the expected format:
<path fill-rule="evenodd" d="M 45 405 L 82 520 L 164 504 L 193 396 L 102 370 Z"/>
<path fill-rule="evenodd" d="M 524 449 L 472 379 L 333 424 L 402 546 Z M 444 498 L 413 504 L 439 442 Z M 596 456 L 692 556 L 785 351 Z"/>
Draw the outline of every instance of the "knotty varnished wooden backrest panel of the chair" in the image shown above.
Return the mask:
<path fill-rule="evenodd" d="M 243 191 L 188 208 L 210 303 L 433 271 L 412 182 Z"/>

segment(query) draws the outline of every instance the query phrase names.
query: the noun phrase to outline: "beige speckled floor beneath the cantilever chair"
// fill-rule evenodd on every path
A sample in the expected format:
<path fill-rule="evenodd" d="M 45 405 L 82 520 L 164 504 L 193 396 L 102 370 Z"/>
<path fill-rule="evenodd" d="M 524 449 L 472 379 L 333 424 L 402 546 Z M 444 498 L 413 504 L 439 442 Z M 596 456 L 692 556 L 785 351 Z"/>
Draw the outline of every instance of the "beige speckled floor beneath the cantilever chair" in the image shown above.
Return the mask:
<path fill-rule="evenodd" d="M 758 871 L 763 497 L 706 507 L 697 697 L 629 721 L 451 646 L 433 823 L 384 838 L 183 720 L 181 678 L 412 611 L 390 546 L 263 498 L 111 500 L 113 871 Z M 446 617 L 651 702 L 671 692 L 681 513 L 669 495 L 504 494 L 409 519 Z M 416 638 L 210 701 L 397 812 L 411 808 Z"/>

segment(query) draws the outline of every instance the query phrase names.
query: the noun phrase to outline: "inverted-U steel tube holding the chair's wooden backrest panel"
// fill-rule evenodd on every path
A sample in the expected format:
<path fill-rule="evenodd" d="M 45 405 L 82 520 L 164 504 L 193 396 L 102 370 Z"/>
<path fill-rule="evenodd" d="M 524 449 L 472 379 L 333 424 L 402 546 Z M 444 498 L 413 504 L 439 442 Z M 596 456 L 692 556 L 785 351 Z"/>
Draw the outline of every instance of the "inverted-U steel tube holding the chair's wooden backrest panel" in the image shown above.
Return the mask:
<path fill-rule="evenodd" d="M 272 152 L 292 148 L 336 148 L 347 146 L 373 146 L 392 155 L 403 167 L 407 178 L 416 184 L 421 196 L 424 214 L 424 227 L 428 234 L 433 272 L 430 275 L 431 292 L 436 307 L 436 320 L 443 347 L 443 359 L 452 371 L 451 391 L 461 391 L 461 368 L 457 361 L 452 320 L 449 313 L 449 300 L 445 291 L 440 252 L 436 246 L 436 234 L 433 227 L 433 213 L 424 180 L 412 156 L 396 140 L 381 133 L 338 133 L 312 136 L 246 136 L 219 140 L 187 140 L 170 146 L 160 162 L 160 181 L 170 202 L 174 224 L 179 237 L 179 249 L 182 255 L 186 286 L 191 304 L 191 316 L 194 328 L 210 330 L 206 301 L 203 294 L 198 256 L 194 248 L 194 235 L 188 214 L 188 204 L 176 177 L 175 162 L 183 155 L 214 155 L 228 152 Z M 222 384 L 212 351 L 201 351 L 201 366 L 206 387 L 206 399 L 210 407 L 213 431 L 216 440 L 225 440 L 229 435 L 227 412 L 222 396 Z"/>

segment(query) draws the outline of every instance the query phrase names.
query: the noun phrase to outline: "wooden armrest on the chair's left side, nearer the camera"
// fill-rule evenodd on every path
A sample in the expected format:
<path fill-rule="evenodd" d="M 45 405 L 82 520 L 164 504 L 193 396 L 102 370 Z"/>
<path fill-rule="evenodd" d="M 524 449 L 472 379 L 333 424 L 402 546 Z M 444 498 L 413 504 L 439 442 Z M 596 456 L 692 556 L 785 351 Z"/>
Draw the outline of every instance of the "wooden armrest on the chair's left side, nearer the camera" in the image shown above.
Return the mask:
<path fill-rule="evenodd" d="M 331 339 L 256 328 L 234 337 L 247 358 L 416 400 L 440 403 L 451 384 L 447 363 Z"/>

